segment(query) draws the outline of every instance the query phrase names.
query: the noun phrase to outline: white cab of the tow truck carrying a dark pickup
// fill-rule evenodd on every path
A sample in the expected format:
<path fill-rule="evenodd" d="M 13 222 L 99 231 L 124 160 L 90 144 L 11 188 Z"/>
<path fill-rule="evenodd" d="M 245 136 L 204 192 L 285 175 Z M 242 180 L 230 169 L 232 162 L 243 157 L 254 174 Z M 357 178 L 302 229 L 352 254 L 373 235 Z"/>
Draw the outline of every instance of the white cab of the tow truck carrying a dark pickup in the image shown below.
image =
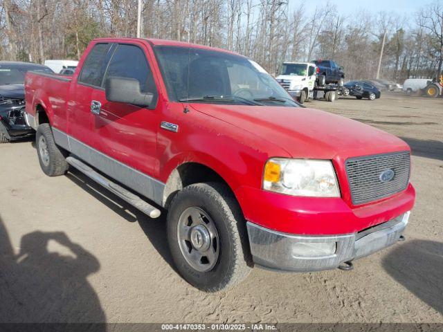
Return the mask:
<path fill-rule="evenodd" d="M 312 62 L 283 62 L 276 80 L 300 104 L 312 98 L 316 82 L 316 64 Z"/>

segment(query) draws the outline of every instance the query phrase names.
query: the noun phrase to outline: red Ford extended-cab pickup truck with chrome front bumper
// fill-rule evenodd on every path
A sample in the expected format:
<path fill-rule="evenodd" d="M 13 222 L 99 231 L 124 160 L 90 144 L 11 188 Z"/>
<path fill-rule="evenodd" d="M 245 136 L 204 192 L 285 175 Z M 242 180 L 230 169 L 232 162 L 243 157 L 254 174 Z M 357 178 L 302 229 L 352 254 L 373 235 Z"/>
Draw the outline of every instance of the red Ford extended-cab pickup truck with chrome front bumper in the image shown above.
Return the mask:
<path fill-rule="evenodd" d="M 152 217 L 204 291 L 251 267 L 351 268 L 403 239 L 415 201 L 399 138 L 300 107 L 257 63 L 158 39 L 95 39 L 72 77 L 28 73 L 48 176 L 75 167 Z"/>

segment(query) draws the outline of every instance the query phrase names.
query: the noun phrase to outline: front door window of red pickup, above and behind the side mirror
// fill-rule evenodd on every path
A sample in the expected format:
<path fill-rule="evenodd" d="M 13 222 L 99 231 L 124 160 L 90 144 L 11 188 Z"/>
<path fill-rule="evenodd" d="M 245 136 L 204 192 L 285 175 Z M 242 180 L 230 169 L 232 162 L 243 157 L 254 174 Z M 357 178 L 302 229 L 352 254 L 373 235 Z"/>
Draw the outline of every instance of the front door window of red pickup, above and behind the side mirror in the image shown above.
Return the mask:
<path fill-rule="evenodd" d="M 135 45 L 118 45 L 105 74 L 107 77 L 134 78 L 140 83 L 143 93 L 156 93 L 156 85 L 146 55 L 141 48 Z"/>

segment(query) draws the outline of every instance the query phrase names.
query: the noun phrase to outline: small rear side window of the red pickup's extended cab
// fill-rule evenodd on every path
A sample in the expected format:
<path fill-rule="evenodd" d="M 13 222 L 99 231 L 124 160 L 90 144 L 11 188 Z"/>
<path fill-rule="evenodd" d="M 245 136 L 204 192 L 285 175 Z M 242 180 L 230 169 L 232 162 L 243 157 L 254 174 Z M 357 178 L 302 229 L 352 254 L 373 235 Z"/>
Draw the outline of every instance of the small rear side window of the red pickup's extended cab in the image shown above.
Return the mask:
<path fill-rule="evenodd" d="M 105 73 L 106 59 L 110 44 L 96 44 L 84 60 L 82 72 L 78 82 L 92 86 L 101 86 L 103 74 Z"/>

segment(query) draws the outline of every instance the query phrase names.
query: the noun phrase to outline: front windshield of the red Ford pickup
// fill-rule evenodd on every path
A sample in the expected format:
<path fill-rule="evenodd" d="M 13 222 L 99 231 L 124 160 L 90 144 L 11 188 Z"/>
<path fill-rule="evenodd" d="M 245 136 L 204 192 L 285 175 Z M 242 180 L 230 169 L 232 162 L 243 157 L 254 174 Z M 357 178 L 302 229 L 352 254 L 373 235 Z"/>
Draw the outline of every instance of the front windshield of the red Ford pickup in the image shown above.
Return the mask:
<path fill-rule="evenodd" d="M 175 102 L 297 107 L 255 62 L 216 50 L 155 46 L 169 99 Z"/>

